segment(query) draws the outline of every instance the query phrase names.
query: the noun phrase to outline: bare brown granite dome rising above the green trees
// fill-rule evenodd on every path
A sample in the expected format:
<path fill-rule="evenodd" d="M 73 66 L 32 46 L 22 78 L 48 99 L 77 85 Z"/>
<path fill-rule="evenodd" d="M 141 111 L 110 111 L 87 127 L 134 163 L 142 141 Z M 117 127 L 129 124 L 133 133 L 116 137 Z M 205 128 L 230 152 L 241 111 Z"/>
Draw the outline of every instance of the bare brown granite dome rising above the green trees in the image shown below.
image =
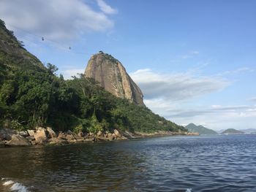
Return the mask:
<path fill-rule="evenodd" d="M 85 75 L 99 82 L 102 88 L 114 96 L 144 106 L 142 91 L 129 77 L 121 62 L 113 56 L 102 52 L 91 56 Z"/>

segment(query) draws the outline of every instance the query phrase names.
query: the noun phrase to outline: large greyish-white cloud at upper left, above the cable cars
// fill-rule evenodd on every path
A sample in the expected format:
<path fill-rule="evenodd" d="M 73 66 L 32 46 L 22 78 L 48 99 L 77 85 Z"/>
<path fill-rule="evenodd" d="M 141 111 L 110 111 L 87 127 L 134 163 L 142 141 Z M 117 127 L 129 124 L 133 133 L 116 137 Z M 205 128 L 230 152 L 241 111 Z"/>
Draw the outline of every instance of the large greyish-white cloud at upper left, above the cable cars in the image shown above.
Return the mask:
<path fill-rule="evenodd" d="M 102 4 L 108 8 L 97 12 L 83 0 L 1 0 L 0 18 L 15 32 L 21 29 L 45 39 L 68 41 L 89 31 L 113 28 L 113 20 L 105 15 L 112 8 Z"/>

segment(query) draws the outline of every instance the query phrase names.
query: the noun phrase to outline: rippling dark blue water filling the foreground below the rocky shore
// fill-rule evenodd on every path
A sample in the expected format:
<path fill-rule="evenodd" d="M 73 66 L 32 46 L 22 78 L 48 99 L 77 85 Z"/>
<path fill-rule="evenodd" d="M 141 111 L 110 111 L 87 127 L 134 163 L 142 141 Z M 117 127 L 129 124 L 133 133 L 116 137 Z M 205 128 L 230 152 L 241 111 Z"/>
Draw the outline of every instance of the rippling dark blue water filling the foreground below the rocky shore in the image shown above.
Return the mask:
<path fill-rule="evenodd" d="M 256 191 L 256 135 L 0 148 L 0 191 Z"/>

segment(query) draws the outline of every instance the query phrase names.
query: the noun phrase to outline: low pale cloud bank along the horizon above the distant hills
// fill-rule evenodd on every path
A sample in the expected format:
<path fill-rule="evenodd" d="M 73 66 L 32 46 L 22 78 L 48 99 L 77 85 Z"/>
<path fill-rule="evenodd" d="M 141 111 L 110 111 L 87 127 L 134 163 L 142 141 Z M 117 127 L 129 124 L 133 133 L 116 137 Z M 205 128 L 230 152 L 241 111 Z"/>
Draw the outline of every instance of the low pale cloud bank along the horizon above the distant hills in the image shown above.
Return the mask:
<path fill-rule="evenodd" d="M 152 105 L 154 106 L 154 104 Z M 155 105 L 156 107 L 157 105 Z M 195 123 L 214 130 L 226 128 L 255 128 L 256 107 L 255 106 L 220 106 L 219 107 L 184 107 L 176 104 L 170 106 L 169 110 L 154 108 L 160 115 L 178 124 L 187 125 Z M 173 110 L 175 109 L 175 110 Z"/>

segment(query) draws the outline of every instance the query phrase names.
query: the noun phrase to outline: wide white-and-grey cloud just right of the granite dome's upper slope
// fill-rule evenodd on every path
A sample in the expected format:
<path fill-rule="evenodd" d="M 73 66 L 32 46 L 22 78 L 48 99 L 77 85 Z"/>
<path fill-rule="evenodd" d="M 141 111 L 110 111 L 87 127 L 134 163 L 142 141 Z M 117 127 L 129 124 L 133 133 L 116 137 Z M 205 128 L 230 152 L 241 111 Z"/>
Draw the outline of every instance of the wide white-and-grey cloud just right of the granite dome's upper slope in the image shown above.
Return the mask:
<path fill-rule="evenodd" d="M 130 74 L 146 99 L 184 101 L 207 93 L 221 91 L 230 84 L 221 77 L 204 77 L 191 73 L 157 74 L 140 69 Z"/>

